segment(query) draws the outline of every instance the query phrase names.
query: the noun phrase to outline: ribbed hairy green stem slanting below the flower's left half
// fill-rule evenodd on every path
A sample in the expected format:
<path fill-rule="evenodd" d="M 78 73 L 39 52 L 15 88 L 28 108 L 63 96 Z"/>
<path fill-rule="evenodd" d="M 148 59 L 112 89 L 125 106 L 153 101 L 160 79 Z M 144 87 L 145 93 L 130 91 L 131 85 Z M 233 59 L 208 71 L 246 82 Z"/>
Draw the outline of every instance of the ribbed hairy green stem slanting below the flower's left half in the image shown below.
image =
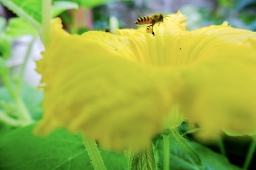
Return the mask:
<path fill-rule="evenodd" d="M 95 170 L 106 170 L 100 151 L 94 139 L 87 139 L 84 133 L 80 133 L 84 141 L 85 148 L 88 152 L 90 159 L 92 160 L 92 165 Z"/>

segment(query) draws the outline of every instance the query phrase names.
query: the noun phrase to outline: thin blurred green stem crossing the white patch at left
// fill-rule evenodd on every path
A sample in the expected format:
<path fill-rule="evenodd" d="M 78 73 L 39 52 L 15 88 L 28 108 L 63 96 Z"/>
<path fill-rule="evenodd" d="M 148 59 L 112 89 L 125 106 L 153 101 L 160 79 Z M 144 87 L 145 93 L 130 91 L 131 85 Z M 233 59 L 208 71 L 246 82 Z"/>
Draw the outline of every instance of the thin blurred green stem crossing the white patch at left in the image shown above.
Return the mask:
<path fill-rule="evenodd" d="M 31 50 L 32 50 L 32 47 L 33 47 L 33 44 L 34 44 L 35 40 L 36 40 L 36 37 L 33 37 L 32 41 L 28 45 L 28 49 L 27 49 L 26 55 L 24 57 L 24 61 L 23 61 L 23 64 L 22 64 L 22 67 L 21 67 L 21 70 L 20 70 L 19 80 L 18 80 L 18 83 L 17 83 L 17 92 L 18 92 L 18 94 L 20 94 L 20 91 L 21 91 L 26 64 L 28 63 L 28 57 L 31 53 Z"/>

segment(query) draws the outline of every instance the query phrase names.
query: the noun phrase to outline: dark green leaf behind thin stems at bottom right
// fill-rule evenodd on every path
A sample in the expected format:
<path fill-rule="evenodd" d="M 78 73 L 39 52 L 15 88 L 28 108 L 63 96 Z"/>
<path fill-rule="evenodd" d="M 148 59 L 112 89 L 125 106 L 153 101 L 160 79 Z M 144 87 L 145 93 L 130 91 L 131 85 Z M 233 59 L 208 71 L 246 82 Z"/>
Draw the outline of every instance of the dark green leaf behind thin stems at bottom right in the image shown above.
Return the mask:
<path fill-rule="evenodd" d="M 200 157 L 204 166 L 195 163 L 193 158 L 183 149 L 182 145 L 170 136 L 170 169 L 174 170 L 241 170 L 231 164 L 225 156 L 222 156 L 198 143 L 190 142 L 192 149 Z M 164 151 L 163 141 L 159 140 L 157 150 L 160 158 L 159 169 L 163 169 Z"/>

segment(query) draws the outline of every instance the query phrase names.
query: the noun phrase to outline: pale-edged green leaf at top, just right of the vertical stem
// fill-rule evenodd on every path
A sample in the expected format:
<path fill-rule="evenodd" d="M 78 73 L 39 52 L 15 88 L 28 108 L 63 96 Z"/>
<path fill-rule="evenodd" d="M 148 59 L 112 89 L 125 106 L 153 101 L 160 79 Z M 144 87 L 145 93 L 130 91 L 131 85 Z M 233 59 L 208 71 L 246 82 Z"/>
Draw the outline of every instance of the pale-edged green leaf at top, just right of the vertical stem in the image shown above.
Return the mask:
<path fill-rule="evenodd" d="M 52 4 L 52 18 L 60 15 L 62 12 L 69 9 L 78 9 L 79 6 L 75 2 L 69 1 L 54 1 Z"/>

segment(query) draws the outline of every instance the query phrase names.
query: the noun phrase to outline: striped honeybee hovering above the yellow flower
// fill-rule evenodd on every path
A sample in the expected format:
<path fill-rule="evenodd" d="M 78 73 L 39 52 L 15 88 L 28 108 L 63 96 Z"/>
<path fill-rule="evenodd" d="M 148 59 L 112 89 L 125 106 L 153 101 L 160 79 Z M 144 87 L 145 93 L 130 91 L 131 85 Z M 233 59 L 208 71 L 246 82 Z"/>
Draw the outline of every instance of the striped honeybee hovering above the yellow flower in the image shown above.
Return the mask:
<path fill-rule="evenodd" d="M 144 17 L 138 18 L 138 20 L 135 21 L 135 24 L 136 25 L 151 24 L 146 27 L 147 33 L 152 33 L 153 35 L 155 35 L 153 31 L 153 26 L 155 25 L 155 23 L 158 23 L 158 22 L 159 22 L 158 26 L 160 25 L 161 22 L 164 23 L 164 18 L 166 19 L 166 17 L 168 16 L 164 17 L 162 13 L 153 14 L 152 16 L 144 16 Z"/>

